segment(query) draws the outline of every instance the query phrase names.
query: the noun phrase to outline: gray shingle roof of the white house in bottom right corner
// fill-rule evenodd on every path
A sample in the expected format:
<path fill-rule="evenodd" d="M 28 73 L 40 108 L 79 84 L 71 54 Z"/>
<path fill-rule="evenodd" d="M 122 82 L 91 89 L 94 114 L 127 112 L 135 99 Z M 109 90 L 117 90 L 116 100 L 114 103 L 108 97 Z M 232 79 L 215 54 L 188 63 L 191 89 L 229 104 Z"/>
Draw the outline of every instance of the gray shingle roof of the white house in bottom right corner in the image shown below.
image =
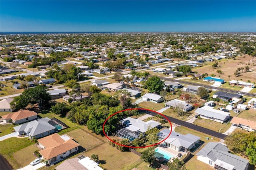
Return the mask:
<path fill-rule="evenodd" d="M 233 165 L 235 170 L 244 170 L 248 164 L 248 160 L 228 152 L 229 149 L 223 144 L 217 142 L 209 142 L 196 155 L 207 156 L 214 162 L 220 160 Z"/>

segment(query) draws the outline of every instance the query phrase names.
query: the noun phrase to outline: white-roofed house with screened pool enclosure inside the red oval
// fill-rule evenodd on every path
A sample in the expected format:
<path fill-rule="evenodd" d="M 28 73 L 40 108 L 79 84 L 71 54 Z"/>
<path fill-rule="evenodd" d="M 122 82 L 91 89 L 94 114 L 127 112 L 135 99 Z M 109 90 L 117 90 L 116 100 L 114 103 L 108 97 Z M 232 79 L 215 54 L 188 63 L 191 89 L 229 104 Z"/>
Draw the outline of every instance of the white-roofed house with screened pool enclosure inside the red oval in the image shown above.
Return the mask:
<path fill-rule="evenodd" d="M 138 138 L 141 133 L 146 132 L 147 130 L 158 127 L 160 123 L 156 121 L 147 121 L 144 122 L 140 119 L 134 119 L 131 117 L 127 117 L 121 121 L 121 123 L 126 126 L 116 133 L 120 138 L 126 138 L 132 142 L 134 139 Z"/>

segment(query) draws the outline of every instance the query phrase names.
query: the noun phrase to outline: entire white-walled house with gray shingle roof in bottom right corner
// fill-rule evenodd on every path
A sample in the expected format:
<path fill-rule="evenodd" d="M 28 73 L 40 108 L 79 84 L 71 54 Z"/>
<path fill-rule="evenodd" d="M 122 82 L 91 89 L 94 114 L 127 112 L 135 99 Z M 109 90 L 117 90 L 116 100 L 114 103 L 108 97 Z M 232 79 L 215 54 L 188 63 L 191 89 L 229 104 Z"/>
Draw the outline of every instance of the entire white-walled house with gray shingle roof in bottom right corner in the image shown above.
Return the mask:
<path fill-rule="evenodd" d="M 226 146 L 218 142 L 209 142 L 196 156 L 217 170 L 247 170 L 249 164 L 249 160 L 231 154 Z"/>

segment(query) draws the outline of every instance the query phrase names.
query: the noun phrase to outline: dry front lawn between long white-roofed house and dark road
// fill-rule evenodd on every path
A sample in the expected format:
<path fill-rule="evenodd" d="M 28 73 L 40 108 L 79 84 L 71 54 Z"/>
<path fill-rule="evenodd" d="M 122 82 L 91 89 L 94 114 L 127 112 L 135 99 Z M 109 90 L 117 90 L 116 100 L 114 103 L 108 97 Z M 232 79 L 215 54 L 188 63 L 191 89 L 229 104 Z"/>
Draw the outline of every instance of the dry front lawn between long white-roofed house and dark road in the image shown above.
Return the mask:
<path fill-rule="evenodd" d="M 226 132 L 226 130 L 228 130 L 228 128 L 230 128 L 231 126 L 231 123 L 218 123 L 207 119 L 196 119 L 196 121 L 194 121 L 194 124 L 200 127 L 205 127 L 214 130 L 216 132 L 219 132 L 220 128 L 222 128 L 222 130 L 220 131 L 221 133 Z"/>

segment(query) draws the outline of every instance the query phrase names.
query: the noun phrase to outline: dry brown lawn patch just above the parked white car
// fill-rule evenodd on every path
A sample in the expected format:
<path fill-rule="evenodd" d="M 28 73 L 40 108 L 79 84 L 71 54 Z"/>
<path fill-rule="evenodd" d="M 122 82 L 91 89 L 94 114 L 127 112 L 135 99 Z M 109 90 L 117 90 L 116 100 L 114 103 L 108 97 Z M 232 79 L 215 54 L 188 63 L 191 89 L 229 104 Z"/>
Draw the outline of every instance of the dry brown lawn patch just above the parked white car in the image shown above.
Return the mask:
<path fill-rule="evenodd" d="M 23 148 L 13 154 L 13 158 L 17 161 L 20 168 L 27 166 L 32 162 L 34 159 L 36 159 L 36 156 L 34 156 L 34 151 L 40 150 L 37 146 L 31 145 L 26 148 Z"/>

